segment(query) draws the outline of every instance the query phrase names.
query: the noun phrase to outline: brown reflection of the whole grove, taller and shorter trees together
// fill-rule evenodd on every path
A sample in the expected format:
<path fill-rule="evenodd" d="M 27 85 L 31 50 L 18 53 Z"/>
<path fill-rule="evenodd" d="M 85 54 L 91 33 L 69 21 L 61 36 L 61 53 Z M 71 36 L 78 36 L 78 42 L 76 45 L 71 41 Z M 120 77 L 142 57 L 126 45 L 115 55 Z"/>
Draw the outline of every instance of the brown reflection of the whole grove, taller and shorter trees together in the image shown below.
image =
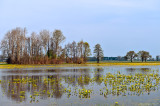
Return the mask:
<path fill-rule="evenodd" d="M 7 97 L 15 101 L 25 101 L 27 99 L 27 92 L 31 95 L 31 101 L 35 101 L 35 97 L 39 96 L 41 99 L 61 98 L 64 93 L 64 87 L 62 85 L 62 79 L 65 81 L 63 84 L 69 84 L 84 87 L 89 85 L 89 69 L 72 69 L 72 70 L 47 70 L 47 72 L 57 73 L 54 75 L 7 75 L 2 76 L 2 90 Z M 43 72 L 43 70 L 34 70 L 33 73 Z M 60 73 L 73 72 L 80 74 L 68 74 L 61 75 Z M 6 72 L 5 72 L 6 73 Z M 8 73 L 27 73 L 27 71 L 13 70 Z"/>

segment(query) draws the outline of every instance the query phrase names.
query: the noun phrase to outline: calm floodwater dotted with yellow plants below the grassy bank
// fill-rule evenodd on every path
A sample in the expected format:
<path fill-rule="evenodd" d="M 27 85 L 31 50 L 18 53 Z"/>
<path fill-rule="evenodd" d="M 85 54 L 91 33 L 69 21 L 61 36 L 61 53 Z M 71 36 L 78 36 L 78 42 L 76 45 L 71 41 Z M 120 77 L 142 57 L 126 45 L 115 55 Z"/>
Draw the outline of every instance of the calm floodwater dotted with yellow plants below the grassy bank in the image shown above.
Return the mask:
<path fill-rule="evenodd" d="M 0 106 L 159 106 L 159 69 L 159 66 L 0 69 Z"/>

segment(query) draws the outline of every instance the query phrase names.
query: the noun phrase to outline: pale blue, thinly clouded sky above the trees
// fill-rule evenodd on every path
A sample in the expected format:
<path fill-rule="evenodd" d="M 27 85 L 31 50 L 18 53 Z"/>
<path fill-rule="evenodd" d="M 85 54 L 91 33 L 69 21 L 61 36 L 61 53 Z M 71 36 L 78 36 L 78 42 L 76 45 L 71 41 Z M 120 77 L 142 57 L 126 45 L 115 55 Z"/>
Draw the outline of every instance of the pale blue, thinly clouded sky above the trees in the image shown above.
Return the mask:
<path fill-rule="evenodd" d="M 0 0 L 0 40 L 16 27 L 60 29 L 64 44 L 86 41 L 92 54 L 99 43 L 104 56 L 160 55 L 160 0 Z"/>

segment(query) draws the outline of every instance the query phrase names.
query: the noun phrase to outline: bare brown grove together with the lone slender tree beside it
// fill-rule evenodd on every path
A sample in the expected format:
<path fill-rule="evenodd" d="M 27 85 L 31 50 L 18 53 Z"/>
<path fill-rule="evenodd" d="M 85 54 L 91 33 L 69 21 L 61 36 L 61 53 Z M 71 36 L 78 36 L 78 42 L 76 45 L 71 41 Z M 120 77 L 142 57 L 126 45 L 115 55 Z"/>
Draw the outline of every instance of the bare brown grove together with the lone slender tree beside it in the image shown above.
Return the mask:
<path fill-rule="evenodd" d="M 1 41 L 2 56 L 9 64 L 86 63 L 91 55 L 89 43 L 73 41 L 62 47 L 65 39 L 61 30 L 44 29 L 28 37 L 26 28 L 17 27 L 8 31 Z M 103 57 L 100 44 L 95 46 L 94 55 L 99 63 Z"/>

